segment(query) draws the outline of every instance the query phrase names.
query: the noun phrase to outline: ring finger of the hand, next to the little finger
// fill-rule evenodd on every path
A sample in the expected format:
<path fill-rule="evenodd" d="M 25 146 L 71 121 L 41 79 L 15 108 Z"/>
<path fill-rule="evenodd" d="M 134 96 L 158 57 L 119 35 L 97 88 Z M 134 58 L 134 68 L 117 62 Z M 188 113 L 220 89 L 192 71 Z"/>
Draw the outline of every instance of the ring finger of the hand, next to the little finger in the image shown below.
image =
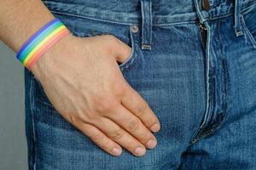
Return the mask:
<path fill-rule="evenodd" d="M 102 129 L 102 132 L 106 133 L 109 139 L 120 144 L 133 155 L 143 156 L 146 153 L 146 149 L 143 144 L 107 117 L 101 117 L 100 121 L 96 123 L 96 127 Z"/>

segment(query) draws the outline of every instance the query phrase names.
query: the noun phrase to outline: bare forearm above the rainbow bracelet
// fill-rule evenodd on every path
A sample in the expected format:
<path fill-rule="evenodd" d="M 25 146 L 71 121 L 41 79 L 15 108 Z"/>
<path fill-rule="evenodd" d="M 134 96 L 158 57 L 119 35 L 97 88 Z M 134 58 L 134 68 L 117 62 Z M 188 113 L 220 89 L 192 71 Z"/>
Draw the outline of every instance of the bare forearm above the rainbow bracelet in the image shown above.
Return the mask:
<path fill-rule="evenodd" d="M 0 0 L 0 39 L 17 52 L 53 18 L 40 0 Z"/>

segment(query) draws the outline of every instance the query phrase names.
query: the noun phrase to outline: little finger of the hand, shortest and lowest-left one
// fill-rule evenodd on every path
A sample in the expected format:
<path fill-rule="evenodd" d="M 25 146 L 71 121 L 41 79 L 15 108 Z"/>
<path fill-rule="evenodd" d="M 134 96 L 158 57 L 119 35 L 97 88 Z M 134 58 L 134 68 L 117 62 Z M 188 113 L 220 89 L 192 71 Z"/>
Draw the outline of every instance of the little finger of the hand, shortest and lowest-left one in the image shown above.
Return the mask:
<path fill-rule="evenodd" d="M 119 156 L 122 153 L 122 148 L 119 144 L 115 143 L 112 139 L 109 139 L 106 134 L 102 133 L 97 127 L 94 127 L 87 123 L 82 123 L 79 126 L 81 132 L 88 136 L 95 144 L 107 151 L 113 156 Z"/>

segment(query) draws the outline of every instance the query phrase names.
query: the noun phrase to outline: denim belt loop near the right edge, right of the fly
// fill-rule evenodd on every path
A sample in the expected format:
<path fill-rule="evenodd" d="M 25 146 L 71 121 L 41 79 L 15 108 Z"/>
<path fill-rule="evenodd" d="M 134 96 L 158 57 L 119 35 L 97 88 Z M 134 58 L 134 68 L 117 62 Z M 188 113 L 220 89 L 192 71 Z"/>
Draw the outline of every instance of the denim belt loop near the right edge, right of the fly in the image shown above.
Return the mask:
<path fill-rule="evenodd" d="M 234 2 L 234 1 L 233 1 Z M 235 32 L 236 32 L 236 37 L 239 37 L 243 34 L 241 31 L 241 4 L 240 0 L 235 0 Z"/>

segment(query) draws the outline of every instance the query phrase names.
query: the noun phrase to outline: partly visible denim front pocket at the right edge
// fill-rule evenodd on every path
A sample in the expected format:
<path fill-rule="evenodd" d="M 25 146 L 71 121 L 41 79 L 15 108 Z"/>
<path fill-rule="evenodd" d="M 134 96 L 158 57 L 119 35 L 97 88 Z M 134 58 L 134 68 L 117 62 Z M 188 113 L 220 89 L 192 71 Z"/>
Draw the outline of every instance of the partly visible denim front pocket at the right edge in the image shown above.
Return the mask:
<path fill-rule="evenodd" d="M 256 48 L 256 8 L 249 9 L 246 13 L 241 14 L 241 25 L 243 30 L 253 45 Z"/>

